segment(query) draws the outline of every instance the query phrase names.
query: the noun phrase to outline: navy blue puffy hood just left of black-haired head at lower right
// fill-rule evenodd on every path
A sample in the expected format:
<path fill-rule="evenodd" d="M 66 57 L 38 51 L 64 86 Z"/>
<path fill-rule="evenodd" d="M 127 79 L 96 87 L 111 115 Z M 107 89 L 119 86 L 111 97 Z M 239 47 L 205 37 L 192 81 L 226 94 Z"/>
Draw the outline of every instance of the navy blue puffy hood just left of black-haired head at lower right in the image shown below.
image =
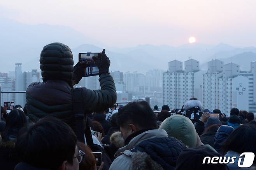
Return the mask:
<path fill-rule="evenodd" d="M 223 154 L 222 146 L 225 142 L 225 140 L 229 137 L 229 135 L 234 131 L 235 129 L 231 126 L 222 125 L 219 127 L 219 129 L 216 132 L 216 135 L 214 137 L 214 144 L 213 148 L 219 153 Z"/>

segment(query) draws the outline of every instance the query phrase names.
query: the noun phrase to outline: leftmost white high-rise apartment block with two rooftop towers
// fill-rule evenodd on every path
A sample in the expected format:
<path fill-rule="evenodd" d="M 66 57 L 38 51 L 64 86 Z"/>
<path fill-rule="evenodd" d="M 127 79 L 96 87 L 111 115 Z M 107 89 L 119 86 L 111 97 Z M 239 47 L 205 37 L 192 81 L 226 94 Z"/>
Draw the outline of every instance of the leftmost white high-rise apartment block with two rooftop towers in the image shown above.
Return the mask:
<path fill-rule="evenodd" d="M 181 109 L 191 97 L 200 100 L 203 73 L 199 70 L 199 61 L 185 61 L 184 70 L 181 61 L 170 61 L 169 70 L 163 73 L 163 104 L 169 105 L 171 109 Z"/>

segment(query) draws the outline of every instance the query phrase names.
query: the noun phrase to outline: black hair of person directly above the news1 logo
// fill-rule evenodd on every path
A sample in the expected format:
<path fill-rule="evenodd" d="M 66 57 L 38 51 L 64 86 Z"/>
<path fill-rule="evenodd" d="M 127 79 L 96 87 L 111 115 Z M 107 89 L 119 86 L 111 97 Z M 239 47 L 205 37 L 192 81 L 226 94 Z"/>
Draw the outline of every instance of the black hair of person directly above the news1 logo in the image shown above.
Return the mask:
<path fill-rule="evenodd" d="M 224 153 L 232 150 L 238 153 L 253 152 L 256 154 L 256 126 L 243 124 L 235 129 L 223 145 Z M 245 142 L 246 141 L 246 142 Z M 254 158 L 255 163 L 255 158 Z"/>

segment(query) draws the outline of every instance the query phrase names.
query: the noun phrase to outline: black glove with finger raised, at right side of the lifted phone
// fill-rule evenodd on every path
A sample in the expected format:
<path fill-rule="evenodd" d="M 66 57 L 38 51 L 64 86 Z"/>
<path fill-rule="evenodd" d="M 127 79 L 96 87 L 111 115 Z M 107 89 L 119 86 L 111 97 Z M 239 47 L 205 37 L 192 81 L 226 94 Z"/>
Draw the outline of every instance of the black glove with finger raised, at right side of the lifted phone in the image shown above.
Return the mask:
<path fill-rule="evenodd" d="M 105 54 L 105 49 L 102 51 L 102 57 L 93 57 L 93 60 L 96 62 L 96 65 L 99 69 L 100 75 L 103 73 L 109 73 L 110 61 L 107 55 Z"/>

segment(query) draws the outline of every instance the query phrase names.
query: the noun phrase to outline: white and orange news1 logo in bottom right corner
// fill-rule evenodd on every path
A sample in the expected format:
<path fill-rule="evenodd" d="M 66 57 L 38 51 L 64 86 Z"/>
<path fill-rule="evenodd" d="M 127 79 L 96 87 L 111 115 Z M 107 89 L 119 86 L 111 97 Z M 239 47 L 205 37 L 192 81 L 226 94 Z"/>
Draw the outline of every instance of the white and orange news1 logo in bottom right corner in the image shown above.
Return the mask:
<path fill-rule="evenodd" d="M 244 161 L 242 162 L 242 158 L 244 156 Z M 238 158 L 238 167 L 239 168 L 249 168 L 252 166 L 252 163 L 253 163 L 253 160 L 254 160 L 254 153 L 252 152 L 244 152 L 242 154 L 240 154 L 239 158 Z M 221 157 L 218 157 L 218 156 L 214 156 L 212 158 L 210 158 L 209 156 L 206 156 L 203 158 L 203 164 L 205 164 L 206 160 L 207 160 L 207 164 L 217 164 L 217 163 L 220 163 L 220 164 L 234 164 L 235 163 L 235 159 L 237 157 L 236 156 L 221 156 Z M 242 164 L 242 165 L 241 165 Z"/>

